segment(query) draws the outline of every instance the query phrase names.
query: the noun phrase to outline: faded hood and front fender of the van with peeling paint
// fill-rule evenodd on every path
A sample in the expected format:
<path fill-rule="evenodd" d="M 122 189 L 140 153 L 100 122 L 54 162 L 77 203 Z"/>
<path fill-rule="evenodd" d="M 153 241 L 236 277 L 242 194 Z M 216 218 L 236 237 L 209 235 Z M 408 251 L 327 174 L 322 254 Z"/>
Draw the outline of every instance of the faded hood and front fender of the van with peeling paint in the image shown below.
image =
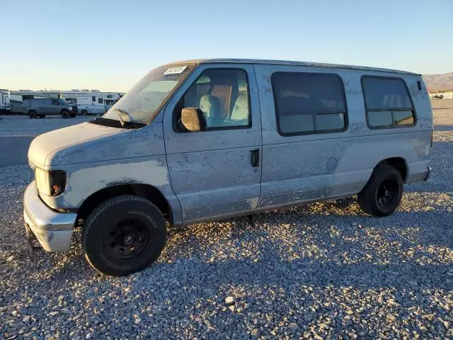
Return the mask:
<path fill-rule="evenodd" d="M 28 154 L 30 164 L 67 174 L 62 195 L 40 193 L 50 208 L 76 210 L 86 198 L 103 188 L 147 184 L 164 195 L 171 206 L 174 223 L 182 222 L 180 204 L 171 189 L 159 121 L 137 130 L 91 123 L 74 125 L 38 136 Z M 40 161 L 36 154 L 45 161 Z"/>

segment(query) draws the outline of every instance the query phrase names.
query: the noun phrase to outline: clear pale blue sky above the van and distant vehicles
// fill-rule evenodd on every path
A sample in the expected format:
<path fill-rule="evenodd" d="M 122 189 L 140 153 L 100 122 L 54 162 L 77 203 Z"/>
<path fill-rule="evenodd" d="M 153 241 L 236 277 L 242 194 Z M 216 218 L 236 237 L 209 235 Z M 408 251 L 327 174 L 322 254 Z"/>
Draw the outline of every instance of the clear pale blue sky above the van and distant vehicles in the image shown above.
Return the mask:
<path fill-rule="evenodd" d="M 0 23 L 10 90 L 127 91 L 211 57 L 453 72 L 453 0 L 0 0 Z"/>

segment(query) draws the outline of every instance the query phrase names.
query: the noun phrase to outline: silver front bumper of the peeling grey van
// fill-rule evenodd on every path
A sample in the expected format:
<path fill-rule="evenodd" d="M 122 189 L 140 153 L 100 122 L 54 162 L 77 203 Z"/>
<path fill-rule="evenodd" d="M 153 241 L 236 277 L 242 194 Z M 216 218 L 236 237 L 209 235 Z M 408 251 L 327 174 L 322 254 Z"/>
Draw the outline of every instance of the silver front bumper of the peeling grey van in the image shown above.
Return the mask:
<path fill-rule="evenodd" d="M 42 202 L 35 181 L 23 195 L 23 219 L 45 251 L 69 250 L 77 215 L 74 212 L 55 212 Z"/>

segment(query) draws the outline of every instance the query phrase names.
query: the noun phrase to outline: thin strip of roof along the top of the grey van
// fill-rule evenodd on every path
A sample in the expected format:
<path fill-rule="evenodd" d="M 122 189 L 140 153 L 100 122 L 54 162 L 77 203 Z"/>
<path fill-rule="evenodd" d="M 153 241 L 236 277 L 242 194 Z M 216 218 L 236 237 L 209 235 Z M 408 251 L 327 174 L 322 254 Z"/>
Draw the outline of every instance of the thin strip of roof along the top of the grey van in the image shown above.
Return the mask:
<path fill-rule="evenodd" d="M 307 67 L 328 67 L 337 69 L 362 69 L 367 71 L 378 72 L 391 72 L 401 74 L 414 74 L 420 76 L 421 74 L 401 71 L 398 69 L 382 69 L 379 67 L 366 67 L 354 66 L 345 64 L 326 64 L 322 62 L 296 62 L 291 60 L 265 60 L 265 59 L 234 59 L 234 58 L 214 58 L 214 59 L 195 59 L 195 60 L 181 60 L 180 62 L 172 62 L 171 64 L 214 64 L 214 63 L 234 63 L 234 64 L 281 64 L 281 65 L 297 65 Z"/>

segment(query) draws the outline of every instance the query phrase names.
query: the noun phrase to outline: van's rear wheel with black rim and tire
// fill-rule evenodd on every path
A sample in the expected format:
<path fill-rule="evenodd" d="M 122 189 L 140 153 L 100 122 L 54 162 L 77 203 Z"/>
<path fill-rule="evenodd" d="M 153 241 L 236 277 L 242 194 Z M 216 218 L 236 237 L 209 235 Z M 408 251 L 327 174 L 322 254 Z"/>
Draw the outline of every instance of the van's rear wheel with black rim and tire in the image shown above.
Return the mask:
<path fill-rule="evenodd" d="M 379 165 L 357 194 L 360 208 L 369 215 L 384 217 L 398 208 L 403 196 L 403 178 L 393 166 Z"/>

